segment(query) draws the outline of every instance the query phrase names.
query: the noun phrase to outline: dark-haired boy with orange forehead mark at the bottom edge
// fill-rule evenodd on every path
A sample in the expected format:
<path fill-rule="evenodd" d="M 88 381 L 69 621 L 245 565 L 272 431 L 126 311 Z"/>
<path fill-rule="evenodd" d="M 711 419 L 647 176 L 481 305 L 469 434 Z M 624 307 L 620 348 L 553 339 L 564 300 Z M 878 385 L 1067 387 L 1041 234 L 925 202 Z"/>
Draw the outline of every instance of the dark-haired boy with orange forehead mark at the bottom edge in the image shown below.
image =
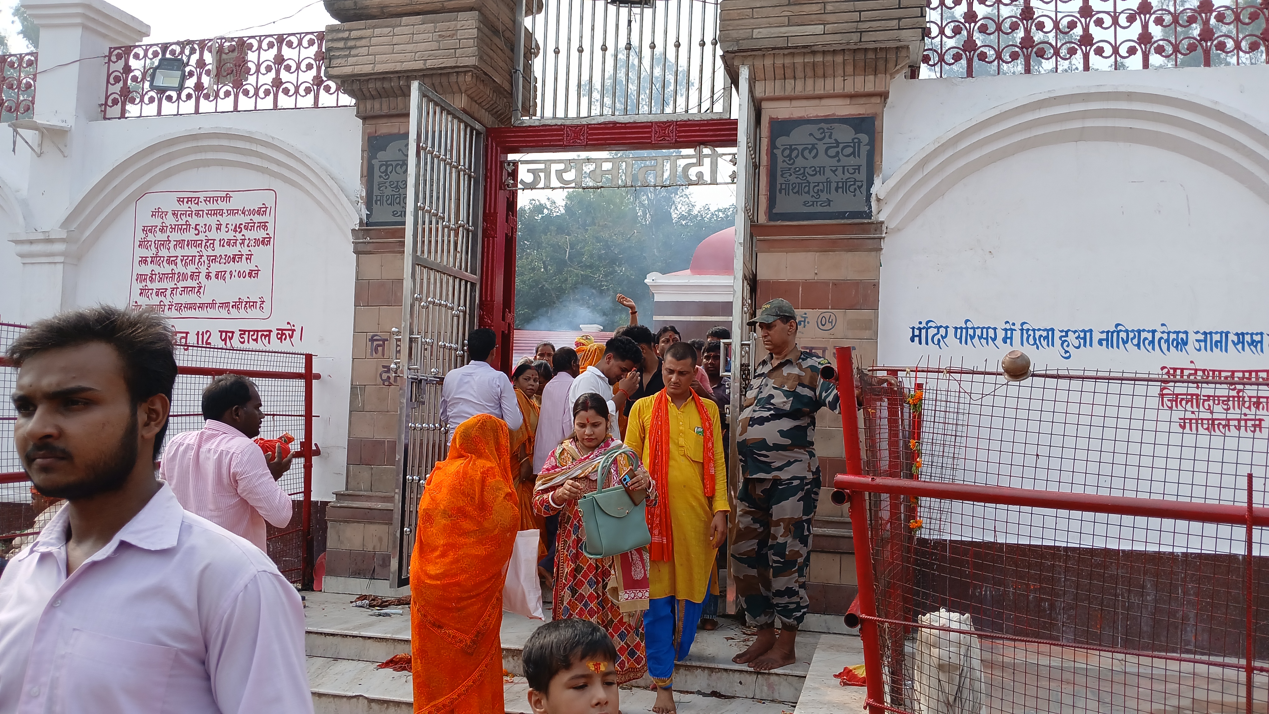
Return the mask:
<path fill-rule="evenodd" d="M 617 648 L 599 625 L 555 620 L 524 644 L 533 714 L 618 714 Z"/>

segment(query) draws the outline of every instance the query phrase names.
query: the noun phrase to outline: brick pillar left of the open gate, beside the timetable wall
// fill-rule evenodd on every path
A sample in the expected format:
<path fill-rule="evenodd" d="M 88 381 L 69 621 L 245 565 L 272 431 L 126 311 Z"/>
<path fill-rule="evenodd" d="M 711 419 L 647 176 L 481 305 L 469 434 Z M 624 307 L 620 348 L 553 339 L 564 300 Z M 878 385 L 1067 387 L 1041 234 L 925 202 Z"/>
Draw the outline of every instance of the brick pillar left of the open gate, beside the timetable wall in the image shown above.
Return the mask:
<path fill-rule="evenodd" d="M 326 74 L 357 99 L 362 185 L 371 137 L 406 134 L 410 84 L 420 80 L 485 124 L 511 119 L 514 0 L 326 0 Z M 357 307 L 349 399 L 348 482 L 327 510 L 325 590 L 393 595 L 388 587 L 400 387 L 387 372 L 401 327 L 405 227 L 353 231 Z"/>

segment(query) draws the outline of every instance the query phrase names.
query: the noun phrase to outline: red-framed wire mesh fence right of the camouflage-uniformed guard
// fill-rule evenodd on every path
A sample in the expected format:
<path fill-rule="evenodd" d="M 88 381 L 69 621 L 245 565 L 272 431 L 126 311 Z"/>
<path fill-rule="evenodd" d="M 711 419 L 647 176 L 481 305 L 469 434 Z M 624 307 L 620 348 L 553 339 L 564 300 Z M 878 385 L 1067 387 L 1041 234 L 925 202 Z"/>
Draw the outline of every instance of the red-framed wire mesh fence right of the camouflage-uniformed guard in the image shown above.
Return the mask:
<path fill-rule="evenodd" d="M 869 699 L 1266 710 L 1269 370 L 883 367 L 858 389 L 863 471 L 906 479 L 853 483 Z"/>

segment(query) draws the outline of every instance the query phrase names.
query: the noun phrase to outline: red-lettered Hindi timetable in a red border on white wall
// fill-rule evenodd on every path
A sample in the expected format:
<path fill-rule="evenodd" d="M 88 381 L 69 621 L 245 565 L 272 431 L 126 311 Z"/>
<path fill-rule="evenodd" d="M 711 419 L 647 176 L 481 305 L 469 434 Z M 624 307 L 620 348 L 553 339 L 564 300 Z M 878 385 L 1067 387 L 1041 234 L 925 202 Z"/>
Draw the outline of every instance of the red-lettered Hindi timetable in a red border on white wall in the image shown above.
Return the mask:
<path fill-rule="evenodd" d="M 277 205 L 273 189 L 142 194 L 128 302 L 176 320 L 272 317 Z"/>

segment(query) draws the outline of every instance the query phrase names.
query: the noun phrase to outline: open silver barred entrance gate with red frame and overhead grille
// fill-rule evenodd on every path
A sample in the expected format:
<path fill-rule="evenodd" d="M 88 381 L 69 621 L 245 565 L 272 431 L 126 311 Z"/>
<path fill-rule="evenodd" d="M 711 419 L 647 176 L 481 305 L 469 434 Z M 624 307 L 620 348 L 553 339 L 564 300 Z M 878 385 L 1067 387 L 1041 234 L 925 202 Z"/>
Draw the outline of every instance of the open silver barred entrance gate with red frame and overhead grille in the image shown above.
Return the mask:
<path fill-rule="evenodd" d="M 732 331 L 731 363 L 740 389 L 732 391 L 732 422 L 753 361 L 753 340 L 742 335 L 749 335 L 745 322 L 755 295 L 749 226 L 758 204 L 756 117 L 749 68 L 741 67 L 741 122 L 730 118 L 733 80 L 718 49 L 717 4 L 688 0 L 671 11 L 651 3 L 544 0 L 518 3 L 516 9 L 516 28 L 524 32 L 515 34 L 513 126 L 485 129 L 423 84 L 414 82 L 411 90 L 405 299 L 402 326 L 393 330 L 392 374 L 401 397 L 391 587 L 409 583 L 418 501 L 428 473 L 448 448 L 440 386 L 449 369 L 466 364 L 467 332 L 494 330 L 499 346 L 490 361 L 505 372 L 513 367 L 516 193 L 525 186 L 519 185 L 509 155 L 695 150 L 699 165 L 703 155 L 713 152 L 717 159 L 716 150 L 739 147 L 732 309 L 739 327 Z M 614 188 L 648 185 L 633 178 L 628 159 L 624 175 L 631 179 L 610 180 Z M 576 188 L 584 188 L 580 165 L 575 171 Z M 728 448 L 728 463 L 737 474 L 735 445 Z M 736 481 L 731 479 L 732 500 Z M 731 602 L 727 607 L 733 610 Z"/>

